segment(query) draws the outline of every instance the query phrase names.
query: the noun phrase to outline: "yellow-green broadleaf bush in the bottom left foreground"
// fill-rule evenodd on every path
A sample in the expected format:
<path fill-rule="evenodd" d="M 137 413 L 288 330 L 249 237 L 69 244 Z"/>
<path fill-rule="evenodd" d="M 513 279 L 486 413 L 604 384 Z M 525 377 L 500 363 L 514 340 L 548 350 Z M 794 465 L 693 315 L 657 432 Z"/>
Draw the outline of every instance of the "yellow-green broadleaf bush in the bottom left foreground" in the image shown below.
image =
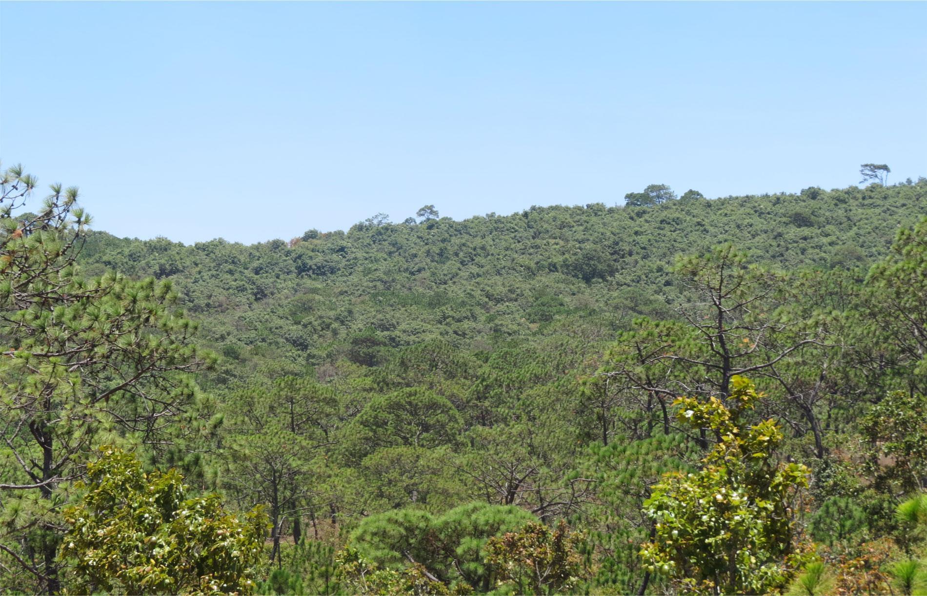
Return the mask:
<path fill-rule="evenodd" d="M 175 470 L 146 474 L 131 454 L 100 448 L 87 464 L 86 494 L 65 512 L 61 555 L 70 590 L 91 593 L 250 593 L 266 516 L 245 520 L 215 494 L 187 499 Z"/>

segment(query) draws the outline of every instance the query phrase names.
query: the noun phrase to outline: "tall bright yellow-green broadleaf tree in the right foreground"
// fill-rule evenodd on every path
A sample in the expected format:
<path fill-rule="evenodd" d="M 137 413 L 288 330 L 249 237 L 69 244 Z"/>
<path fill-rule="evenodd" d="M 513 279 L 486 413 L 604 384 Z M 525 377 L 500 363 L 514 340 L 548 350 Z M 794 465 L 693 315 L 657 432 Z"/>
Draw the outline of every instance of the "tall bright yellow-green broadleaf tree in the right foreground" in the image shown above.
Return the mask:
<path fill-rule="evenodd" d="M 734 376 L 728 405 L 714 397 L 677 400 L 679 421 L 709 428 L 717 442 L 701 471 L 669 474 L 654 486 L 644 507 L 655 535 L 641 557 L 684 590 L 764 593 L 791 573 L 793 500 L 808 472 L 777 463 L 783 437 L 774 421 L 747 424 L 744 414 L 759 399 L 750 381 Z"/>

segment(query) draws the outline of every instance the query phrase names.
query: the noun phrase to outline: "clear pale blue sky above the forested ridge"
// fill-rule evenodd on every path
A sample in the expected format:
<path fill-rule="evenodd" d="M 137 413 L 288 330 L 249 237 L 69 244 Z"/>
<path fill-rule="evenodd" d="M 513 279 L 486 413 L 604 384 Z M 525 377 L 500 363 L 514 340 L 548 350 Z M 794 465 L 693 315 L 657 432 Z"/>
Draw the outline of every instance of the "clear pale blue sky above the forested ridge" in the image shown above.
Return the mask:
<path fill-rule="evenodd" d="M 95 228 L 256 242 L 927 175 L 927 3 L 10 3 L 0 157 Z"/>

